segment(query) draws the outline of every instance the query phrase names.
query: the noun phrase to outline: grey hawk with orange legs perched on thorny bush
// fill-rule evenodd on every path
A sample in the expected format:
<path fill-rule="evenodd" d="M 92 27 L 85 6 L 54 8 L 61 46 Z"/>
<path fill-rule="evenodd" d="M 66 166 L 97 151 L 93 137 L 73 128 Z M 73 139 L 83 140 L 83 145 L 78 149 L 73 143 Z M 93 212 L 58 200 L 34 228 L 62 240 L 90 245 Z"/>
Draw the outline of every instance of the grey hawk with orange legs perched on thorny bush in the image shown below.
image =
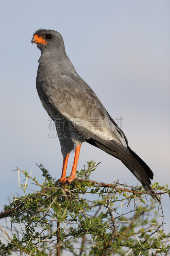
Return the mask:
<path fill-rule="evenodd" d="M 41 103 L 55 122 L 63 155 L 60 183 L 71 184 L 81 144 L 87 142 L 119 159 L 139 180 L 155 200 L 151 188 L 153 172 L 128 145 L 124 132 L 118 127 L 91 87 L 78 75 L 65 52 L 63 37 L 55 30 L 38 29 L 32 44 L 41 51 L 36 88 Z M 75 151 L 69 178 L 66 170 L 69 154 Z M 150 180 L 151 179 L 151 180 Z"/>

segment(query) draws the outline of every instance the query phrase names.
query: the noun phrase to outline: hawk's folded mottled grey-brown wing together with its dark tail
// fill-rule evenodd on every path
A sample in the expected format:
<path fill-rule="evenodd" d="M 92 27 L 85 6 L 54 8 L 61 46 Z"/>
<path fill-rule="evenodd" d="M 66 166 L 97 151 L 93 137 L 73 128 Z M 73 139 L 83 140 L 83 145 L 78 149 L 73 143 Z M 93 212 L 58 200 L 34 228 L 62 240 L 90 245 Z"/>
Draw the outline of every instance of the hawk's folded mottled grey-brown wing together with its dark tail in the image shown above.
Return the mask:
<path fill-rule="evenodd" d="M 62 72 L 63 73 L 63 72 Z M 118 158 L 150 191 L 153 172 L 128 146 L 128 141 L 109 116 L 106 109 L 88 84 L 71 72 L 49 76 L 42 82 L 47 96 L 46 104 L 57 109 L 87 139 L 86 141 Z M 97 125 L 96 125 L 97 124 Z M 153 198 L 159 200 L 157 196 Z"/>

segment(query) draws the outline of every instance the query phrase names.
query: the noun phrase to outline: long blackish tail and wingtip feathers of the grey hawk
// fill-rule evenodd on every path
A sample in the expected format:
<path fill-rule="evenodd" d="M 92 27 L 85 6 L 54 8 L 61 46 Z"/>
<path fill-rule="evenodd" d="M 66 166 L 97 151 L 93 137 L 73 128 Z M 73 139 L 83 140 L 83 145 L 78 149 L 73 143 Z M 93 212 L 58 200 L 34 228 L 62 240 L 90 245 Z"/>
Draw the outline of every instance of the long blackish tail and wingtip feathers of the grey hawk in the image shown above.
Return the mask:
<path fill-rule="evenodd" d="M 135 175 L 135 177 L 141 182 L 144 189 L 152 194 L 152 198 L 156 201 L 159 201 L 159 198 L 153 192 L 151 188 L 151 180 L 153 179 L 153 172 L 147 164 L 139 157 L 135 152 L 133 152 L 129 146 L 127 150 L 118 145 L 115 145 L 115 142 L 112 140 L 86 140 L 88 143 L 92 144 L 95 147 L 98 147 L 108 153 L 111 156 L 114 156 L 122 161 L 122 163 L 129 169 L 130 172 Z M 150 180 L 151 179 L 151 180 Z"/>

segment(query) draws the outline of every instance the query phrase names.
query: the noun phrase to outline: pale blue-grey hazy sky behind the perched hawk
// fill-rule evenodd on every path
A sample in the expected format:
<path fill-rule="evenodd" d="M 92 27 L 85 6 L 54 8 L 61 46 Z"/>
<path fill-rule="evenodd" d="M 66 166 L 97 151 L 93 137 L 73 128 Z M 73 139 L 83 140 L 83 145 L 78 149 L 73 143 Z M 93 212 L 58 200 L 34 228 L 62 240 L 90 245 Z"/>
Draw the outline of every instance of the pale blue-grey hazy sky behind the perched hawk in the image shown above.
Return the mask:
<path fill-rule="evenodd" d="M 33 169 L 32 176 L 41 183 L 36 163 L 43 164 L 56 180 L 61 177 L 59 140 L 35 86 L 41 52 L 31 39 L 38 28 L 63 36 L 78 74 L 116 122 L 122 117 L 129 147 L 152 169 L 153 182 L 169 183 L 169 11 L 167 0 L 1 3 L 0 210 L 13 197 L 11 193 L 22 194 L 17 172 L 13 172 L 16 167 L 28 173 Z M 67 175 L 73 158 L 71 154 Z M 120 183 L 136 186 L 137 179 L 119 160 L 83 143 L 78 170 L 90 160 L 101 162 L 91 179 L 110 183 L 115 176 Z M 23 180 L 20 174 L 20 183 L 25 184 Z M 32 184 L 29 188 L 37 189 Z M 165 195 L 168 219 L 167 200 Z"/>

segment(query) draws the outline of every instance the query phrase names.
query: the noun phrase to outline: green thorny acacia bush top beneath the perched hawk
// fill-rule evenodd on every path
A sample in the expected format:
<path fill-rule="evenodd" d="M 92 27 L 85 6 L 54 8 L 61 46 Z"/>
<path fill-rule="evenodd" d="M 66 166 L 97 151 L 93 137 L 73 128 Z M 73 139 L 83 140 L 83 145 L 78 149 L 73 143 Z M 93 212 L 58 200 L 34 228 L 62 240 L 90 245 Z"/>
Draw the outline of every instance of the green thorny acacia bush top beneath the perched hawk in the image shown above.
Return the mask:
<path fill-rule="evenodd" d="M 149 192 L 141 186 L 90 180 L 97 165 L 88 162 L 65 186 L 42 165 L 43 185 L 17 169 L 26 183 L 20 186 L 23 196 L 13 196 L 0 214 L 11 220 L 9 227 L 1 221 L 0 255 L 167 255 L 170 235 L 164 232 L 161 200 L 145 202 Z M 28 180 L 36 185 L 32 194 L 26 193 Z M 170 193 L 167 185 L 152 189 L 159 196 Z"/>

